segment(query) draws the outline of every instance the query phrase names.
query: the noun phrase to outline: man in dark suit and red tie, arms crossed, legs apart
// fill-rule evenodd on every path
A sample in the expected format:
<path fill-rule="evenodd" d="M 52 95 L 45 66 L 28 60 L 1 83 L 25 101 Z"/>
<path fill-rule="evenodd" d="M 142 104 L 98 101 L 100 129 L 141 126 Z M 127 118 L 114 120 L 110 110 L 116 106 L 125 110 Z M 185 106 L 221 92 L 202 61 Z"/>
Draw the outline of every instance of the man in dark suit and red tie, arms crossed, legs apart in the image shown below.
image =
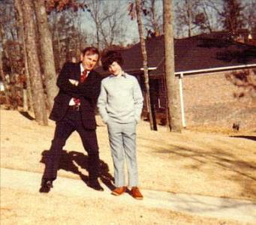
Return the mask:
<path fill-rule="evenodd" d="M 95 121 L 101 77 L 93 71 L 99 58 L 98 49 L 87 47 L 80 57 L 80 63 L 65 63 L 57 80 L 59 93 L 50 113 L 50 119 L 56 121 L 56 130 L 46 159 L 40 192 L 48 193 L 53 187 L 62 148 L 74 130 L 79 133 L 88 154 L 88 185 L 95 190 L 103 190 L 98 182 L 99 154 Z"/>

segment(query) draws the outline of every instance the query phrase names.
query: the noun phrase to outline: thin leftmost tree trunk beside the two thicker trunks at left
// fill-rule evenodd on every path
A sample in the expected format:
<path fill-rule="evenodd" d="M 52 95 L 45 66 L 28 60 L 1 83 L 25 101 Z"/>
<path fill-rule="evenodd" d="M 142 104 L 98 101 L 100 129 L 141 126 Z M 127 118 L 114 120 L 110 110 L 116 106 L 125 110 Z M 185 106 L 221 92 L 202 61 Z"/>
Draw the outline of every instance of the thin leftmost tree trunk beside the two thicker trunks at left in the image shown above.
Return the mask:
<path fill-rule="evenodd" d="M 24 22 L 23 22 L 23 11 L 21 9 L 21 0 L 15 0 L 15 7 L 18 13 L 18 26 L 19 29 L 19 37 L 20 37 L 20 46 L 22 50 L 21 55 L 23 55 L 24 60 L 24 73 L 26 76 L 26 87 L 24 87 L 23 90 L 23 110 L 29 111 L 31 110 L 32 113 L 34 113 L 34 107 L 33 107 L 33 101 L 32 101 L 32 88 L 30 84 L 30 78 L 29 78 L 29 68 L 28 68 L 28 58 L 26 55 L 26 44 L 25 44 L 25 37 L 24 37 Z"/>

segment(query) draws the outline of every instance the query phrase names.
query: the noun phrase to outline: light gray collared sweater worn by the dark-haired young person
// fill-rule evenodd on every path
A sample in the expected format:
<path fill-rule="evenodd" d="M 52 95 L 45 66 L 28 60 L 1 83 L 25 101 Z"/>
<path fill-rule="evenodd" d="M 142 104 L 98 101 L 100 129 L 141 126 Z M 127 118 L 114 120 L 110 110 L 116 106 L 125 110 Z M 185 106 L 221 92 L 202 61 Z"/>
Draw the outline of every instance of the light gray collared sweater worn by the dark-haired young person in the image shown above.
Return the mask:
<path fill-rule="evenodd" d="M 129 74 L 110 75 L 101 81 L 98 110 L 105 123 L 139 122 L 143 95 L 136 77 Z"/>

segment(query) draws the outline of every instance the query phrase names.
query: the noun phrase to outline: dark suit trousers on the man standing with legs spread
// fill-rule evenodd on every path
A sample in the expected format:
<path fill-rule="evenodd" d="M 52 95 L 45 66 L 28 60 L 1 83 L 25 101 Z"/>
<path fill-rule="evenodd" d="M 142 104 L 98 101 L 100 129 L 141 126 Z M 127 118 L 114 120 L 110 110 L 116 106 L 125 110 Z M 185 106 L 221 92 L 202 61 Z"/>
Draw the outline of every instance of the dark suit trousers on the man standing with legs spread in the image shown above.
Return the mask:
<path fill-rule="evenodd" d="M 74 130 L 77 130 L 79 133 L 83 147 L 88 154 L 89 179 L 98 178 L 99 153 L 96 130 L 86 130 L 83 127 L 80 111 L 69 107 L 65 117 L 61 121 L 56 121 L 56 130 L 50 147 L 50 154 L 46 160 L 43 179 L 52 181 L 56 179 L 62 148 L 65 146 L 66 140 L 71 136 Z"/>

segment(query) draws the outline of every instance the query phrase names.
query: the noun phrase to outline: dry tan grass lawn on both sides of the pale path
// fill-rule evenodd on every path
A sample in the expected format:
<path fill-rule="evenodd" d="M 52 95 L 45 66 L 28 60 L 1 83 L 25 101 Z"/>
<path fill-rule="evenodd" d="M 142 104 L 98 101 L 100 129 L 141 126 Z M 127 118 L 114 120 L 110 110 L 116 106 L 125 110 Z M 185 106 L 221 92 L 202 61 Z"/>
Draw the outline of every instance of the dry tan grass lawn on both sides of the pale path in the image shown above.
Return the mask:
<path fill-rule="evenodd" d="M 39 126 L 25 113 L 1 110 L 1 167 L 30 172 L 44 171 L 55 124 Z M 98 118 L 98 142 L 103 178 L 113 178 L 107 127 Z M 137 127 L 137 160 L 140 187 L 171 193 L 256 199 L 256 130 L 149 129 Z M 77 133 L 68 139 L 59 176 L 83 179 L 86 152 Z M 104 179 L 103 179 L 104 181 Z M 38 184 L 39 189 L 40 184 Z M 73 196 L 26 193 L 1 188 L 2 224 L 236 224 L 170 210 L 121 204 L 113 199 L 78 199 Z M 112 202 L 112 201 L 111 201 Z M 68 203 L 68 204 L 67 204 Z M 72 207 L 67 206 L 72 205 Z M 106 207 L 107 205 L 107 207 Z M 31 220 L 24 214 L 33 214 Z"/>

